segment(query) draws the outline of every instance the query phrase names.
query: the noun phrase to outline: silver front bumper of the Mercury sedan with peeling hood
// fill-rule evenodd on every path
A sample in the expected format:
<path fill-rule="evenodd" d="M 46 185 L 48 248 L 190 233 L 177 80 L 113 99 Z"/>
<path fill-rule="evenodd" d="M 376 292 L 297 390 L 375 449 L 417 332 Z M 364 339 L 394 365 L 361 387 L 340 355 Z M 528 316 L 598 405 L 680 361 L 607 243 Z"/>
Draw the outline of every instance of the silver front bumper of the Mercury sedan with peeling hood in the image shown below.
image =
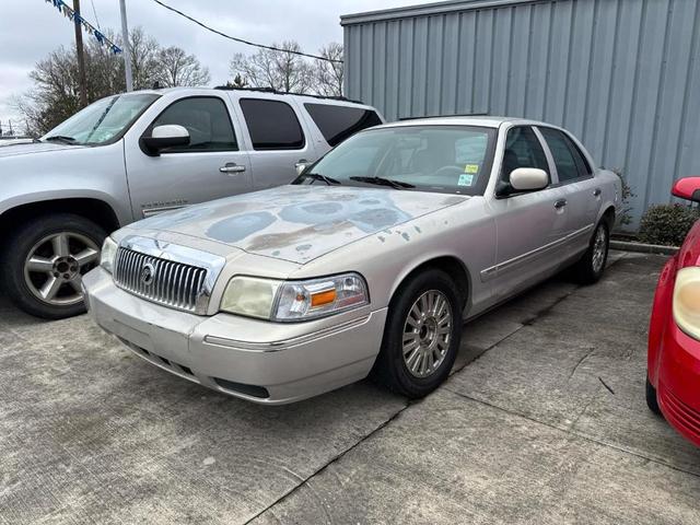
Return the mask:
<path fill-rule="evenodd" d="M 102 268 L 89 272 L 83 285 L 93 319 L 139 357 L 209 388 L 269 405 L 365 377 L 386 320 L 386 308 L 295 324 L 224 313 L 203 317 L 131 295 Z"/>

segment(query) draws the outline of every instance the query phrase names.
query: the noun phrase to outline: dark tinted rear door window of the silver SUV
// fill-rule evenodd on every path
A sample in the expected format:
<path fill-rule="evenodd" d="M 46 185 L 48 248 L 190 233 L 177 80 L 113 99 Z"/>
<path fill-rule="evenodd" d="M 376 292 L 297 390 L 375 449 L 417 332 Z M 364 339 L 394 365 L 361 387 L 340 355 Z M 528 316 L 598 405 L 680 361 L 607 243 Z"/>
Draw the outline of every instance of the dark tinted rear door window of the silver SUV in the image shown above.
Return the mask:
<path fill-rule="evenodd" d="M 304 132 L 292 106 L 280 101 L 241 98 L 255 150 L 300 150 Z"/>

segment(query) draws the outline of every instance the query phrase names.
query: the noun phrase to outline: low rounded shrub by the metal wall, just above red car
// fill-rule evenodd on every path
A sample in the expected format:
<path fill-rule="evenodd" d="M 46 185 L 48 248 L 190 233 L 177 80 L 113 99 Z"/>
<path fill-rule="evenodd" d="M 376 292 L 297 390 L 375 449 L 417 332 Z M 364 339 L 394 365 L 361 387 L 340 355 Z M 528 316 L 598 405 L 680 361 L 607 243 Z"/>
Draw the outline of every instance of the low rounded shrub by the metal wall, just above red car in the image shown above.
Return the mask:
<path fill-rule="evenodd" d="M 700 219 L 700 212 L 688 206 L 652 206 L 642 215 L 639 238 L 649 244 L 680 246 L 698 219 Z"/>

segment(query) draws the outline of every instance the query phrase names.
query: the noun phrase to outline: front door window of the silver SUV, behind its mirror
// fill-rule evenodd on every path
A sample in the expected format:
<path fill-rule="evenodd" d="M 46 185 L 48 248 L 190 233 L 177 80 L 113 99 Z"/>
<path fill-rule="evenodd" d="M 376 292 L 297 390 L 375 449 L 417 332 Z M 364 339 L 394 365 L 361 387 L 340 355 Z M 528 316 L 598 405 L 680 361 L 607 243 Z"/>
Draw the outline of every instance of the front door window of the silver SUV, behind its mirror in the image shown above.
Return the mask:
<path fill-rule="evenodd" d="M 153 121 L 151 129 L 166 124 L 178 124 L 189 131 L 188 145 L 164 150 L 166 152 L 238 149 L 229 110 L 219 97 L 198 96 L 174 102 Z"/>

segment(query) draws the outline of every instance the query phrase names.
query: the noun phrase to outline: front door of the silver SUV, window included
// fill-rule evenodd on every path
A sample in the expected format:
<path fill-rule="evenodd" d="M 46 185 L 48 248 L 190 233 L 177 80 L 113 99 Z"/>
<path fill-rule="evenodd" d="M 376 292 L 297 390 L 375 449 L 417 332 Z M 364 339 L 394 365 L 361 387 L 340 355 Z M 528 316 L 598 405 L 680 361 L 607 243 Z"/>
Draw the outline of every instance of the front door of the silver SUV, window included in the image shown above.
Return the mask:
<path fill-rule="evenodd" d="M 188 145 L 168 148 L 158 156 L 149 155 L 137 144 L 126 148 L 136 219 L 253 189 L 248 154 L 238 150 L 225 98 L 179 98 L 161 112 L 142 137 L 150 137 L 153 128 L 168 124 L 189 131 Z"/>

